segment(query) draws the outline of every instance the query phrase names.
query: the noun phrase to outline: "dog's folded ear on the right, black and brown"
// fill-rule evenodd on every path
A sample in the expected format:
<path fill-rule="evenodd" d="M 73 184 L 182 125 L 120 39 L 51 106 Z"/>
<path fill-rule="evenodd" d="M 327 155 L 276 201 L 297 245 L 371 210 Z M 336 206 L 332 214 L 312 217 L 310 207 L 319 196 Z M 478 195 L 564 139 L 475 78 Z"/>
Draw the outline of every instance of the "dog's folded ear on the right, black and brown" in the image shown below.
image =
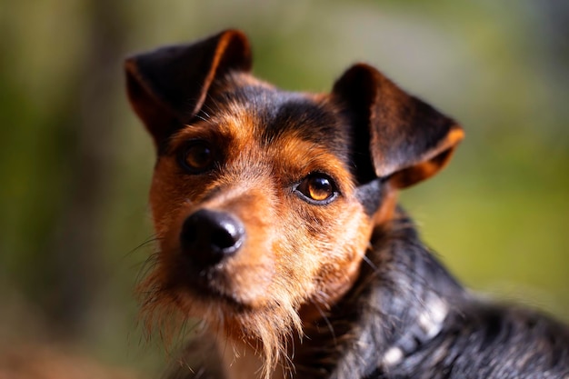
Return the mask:
<path fill-rule="evenodd" d="M 464 137 L 454 120 L 407 95 L 370 65 L 348 69 L 334 84 L 333 96 L 354 120 L 355 148 L 369 149 L 374 176 L 394 188 L 436 174 Z"/>

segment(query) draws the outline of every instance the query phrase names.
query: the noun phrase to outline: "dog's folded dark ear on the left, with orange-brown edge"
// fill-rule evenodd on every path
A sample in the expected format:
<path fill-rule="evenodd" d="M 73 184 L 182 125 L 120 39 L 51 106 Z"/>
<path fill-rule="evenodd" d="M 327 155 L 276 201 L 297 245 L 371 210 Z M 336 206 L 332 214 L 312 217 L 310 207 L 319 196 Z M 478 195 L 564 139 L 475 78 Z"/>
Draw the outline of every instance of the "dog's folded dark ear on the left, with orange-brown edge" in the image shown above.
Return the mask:
<path fill-rule="evenodd" d="M 247 72 L 251 63 L 247 37 L 237 30 L 162 47 L 126 59 L 128 98 L 159 147 L 200 111 L 216 78 Z"/>

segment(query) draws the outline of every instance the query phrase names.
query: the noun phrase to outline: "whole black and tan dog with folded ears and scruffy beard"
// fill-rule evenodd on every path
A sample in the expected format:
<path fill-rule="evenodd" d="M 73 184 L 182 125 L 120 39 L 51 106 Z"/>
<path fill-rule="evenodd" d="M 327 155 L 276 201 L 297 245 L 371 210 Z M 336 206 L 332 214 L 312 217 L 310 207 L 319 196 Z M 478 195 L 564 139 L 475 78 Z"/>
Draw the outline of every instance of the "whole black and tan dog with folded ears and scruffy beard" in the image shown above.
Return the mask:
<path fill-rule="evenodd" d="M 251 65 L 236 30 L 125 61 L 157 152 L 142 312 L 202 320 L 165 377 L 569 378 L 568 328 L 466 290 L 397 204 L 460 125 L 370 65 L 329 94 Z"/>

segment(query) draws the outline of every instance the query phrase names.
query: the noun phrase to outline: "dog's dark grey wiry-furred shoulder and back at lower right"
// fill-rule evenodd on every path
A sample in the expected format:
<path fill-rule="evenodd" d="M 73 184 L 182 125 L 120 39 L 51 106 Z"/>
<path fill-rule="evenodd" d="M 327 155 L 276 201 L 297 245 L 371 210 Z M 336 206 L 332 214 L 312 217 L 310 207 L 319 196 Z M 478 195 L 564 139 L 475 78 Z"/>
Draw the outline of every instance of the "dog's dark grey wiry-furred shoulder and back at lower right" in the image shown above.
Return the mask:
<path fill-rule="evenodd" d="M 373 279 L 362 282 L 367 298 L 358 299 L 355 338 L 366 344 L 346 349 L 334 377 L 569 377 L 566 325 L 464 289 L 406 217 L 381 238 L 369 254 Z"/>

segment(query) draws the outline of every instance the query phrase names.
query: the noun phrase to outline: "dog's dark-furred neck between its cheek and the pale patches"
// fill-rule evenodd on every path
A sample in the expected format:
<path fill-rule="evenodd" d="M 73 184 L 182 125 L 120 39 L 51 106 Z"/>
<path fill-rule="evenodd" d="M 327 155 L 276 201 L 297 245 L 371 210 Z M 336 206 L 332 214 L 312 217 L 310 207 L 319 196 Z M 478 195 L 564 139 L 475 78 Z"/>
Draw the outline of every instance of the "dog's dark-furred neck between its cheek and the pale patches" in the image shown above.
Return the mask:
<path fill-rule="evenodd" d="M 454 299 L 466 295 L 398 209 L 378 227 L 354 287 L 305 330 L 295 347 L 298 378 L 363 378 L 389 370 L 428 344 Z"/>

